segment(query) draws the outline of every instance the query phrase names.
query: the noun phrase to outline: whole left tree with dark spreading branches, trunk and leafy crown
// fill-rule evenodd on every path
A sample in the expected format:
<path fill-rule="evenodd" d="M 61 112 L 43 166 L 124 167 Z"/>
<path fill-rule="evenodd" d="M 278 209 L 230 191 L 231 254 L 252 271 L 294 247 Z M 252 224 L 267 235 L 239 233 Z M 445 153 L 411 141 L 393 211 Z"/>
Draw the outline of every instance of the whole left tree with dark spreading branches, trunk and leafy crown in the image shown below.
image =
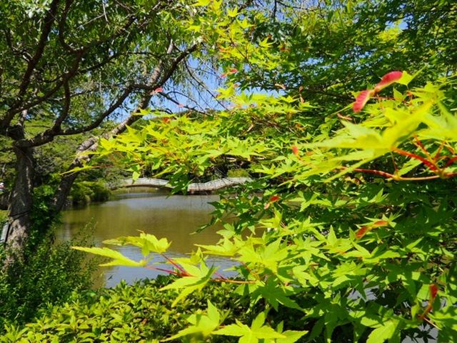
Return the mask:
<path fill-rule="evenodd" d="M 74 153 L 94 151 L 100 134 L 120 134 L 167 81 L 179 83 L 183 62 L 201 44 L 181 24 L 196 15 L 186 2 L 1 2 L 0 140 L 15 171 L 0 202 L 9 208 L 9 248 L 21 251 L 30 234 L 39 146 L 86 133 Z M 78 155 L 69 168 L 82 163 Z M 76 177 L 61 177 L 54 212 Z"/>

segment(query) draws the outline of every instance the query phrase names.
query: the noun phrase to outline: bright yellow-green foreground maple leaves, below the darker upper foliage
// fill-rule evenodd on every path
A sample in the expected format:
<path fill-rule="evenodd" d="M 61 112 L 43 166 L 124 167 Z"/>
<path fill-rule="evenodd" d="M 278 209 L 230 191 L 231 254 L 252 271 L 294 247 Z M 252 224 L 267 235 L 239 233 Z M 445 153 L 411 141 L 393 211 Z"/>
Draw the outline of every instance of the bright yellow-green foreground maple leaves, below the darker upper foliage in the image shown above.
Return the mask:
<path fill-rule="evenodd" d="M 399 74 L 397 82 L 411 79 Z M 378 91 L 393 82 L 386 79 L 376 85 Z M 446 342 L 457 324 L 457 199 L 447 191 L 456 185 L 457 126 L 440 90 L 449 86 L 452 94 L 447 83 L 411 89 L 411 101 L 397 91 L 393 99 L 367 105 L 365 121 L 343 121 L 342 129 L 316 135 L 312 143 L 308 137 L 243 136 L 253 110 L 237 109 L 201 122 L 183 116 L 155 121 L 102 145 L 107 151 L 129 146 L 127 161 L 161 166 L 173 179 L 202 173 L 227 156 L 255 161 L 255 172 L 264 175 L 216 204 L 216 220 L 233 214 L 237 219 L 226 222 L 219 244 L 171 261 L 182 277 L 166 287 L 179 289 L 176 301 L 217 275 L 204 263 L 204 255 L 216 254 L 240 263 L 236 270 L 244 281 L 238 292 L 254 304 L 266 302 L 266 309 L 278 312 L 300 309 L 312 327 L 308 340 L 323 332 L 328 339 L 400 342 L 405 336 L 427 337 L 438 327 Z M 281 109 L 281 99 L 274 105 Z M 274 115 L 269 120 L 277 126 L 290 125 L 286 116 Z M 107 248 L 86 250 L 132 267 L 149 264 L 150 252 L 166 254 L 168 247 L 143 234 L 106 243 L 141 247 L 145 259 L 133 262 Z M 231 325 L 213 324 L 206 334 L 236 332 Z"/>

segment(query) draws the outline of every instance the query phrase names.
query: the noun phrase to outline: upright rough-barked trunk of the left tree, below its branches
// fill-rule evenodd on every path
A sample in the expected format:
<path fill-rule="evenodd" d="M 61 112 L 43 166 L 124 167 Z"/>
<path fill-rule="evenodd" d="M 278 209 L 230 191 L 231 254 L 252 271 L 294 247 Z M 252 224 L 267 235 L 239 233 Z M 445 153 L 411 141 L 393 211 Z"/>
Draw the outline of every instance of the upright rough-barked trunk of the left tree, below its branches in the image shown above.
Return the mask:
<path fill-rule="evenodd" d="M 15 148 L 16 180 L 9 196 L 9 229 L 6 234 L 6 247 L 10 264 L 16 257 L 21 258 L 30 231 L 30 216 L 34 191 L 33 149 Z"/>

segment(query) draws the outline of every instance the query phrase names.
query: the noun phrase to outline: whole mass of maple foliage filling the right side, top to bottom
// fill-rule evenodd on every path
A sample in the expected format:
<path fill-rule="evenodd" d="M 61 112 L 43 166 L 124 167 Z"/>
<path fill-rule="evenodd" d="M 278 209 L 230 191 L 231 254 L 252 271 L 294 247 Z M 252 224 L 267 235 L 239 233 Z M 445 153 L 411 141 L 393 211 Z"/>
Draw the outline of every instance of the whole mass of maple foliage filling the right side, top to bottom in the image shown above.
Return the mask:
<path fill-rule="evenodd" d="M 457 176 L 455 65 L 448 41 L 433 38 L 441 28 L 419 20 L 435 11 L 454 16 L 454 5 L 434 5 L 425 17 L 393 2 L 287 8 L 281 16 L 290 16 L 272 24 L 291 28 L 282 41 L 263 15 L 240 17 L 228 30 L 205 19 L 191 26 L 204 35 L 211 28 L 204 39 L 217 36 L 227 109 L 161 116 L 101 141 L 99 152 L 122 156 L 134 176 L 142 168 L 165 174 L 177 189 L 224 164 L 256 177 L 215 205 L 214 222 L 224 222 L 218 244 L 170 261 L 181 278 L 164 289 L 177 290 L 175 303 L 206 284 L 231 282 L 206 266 L 215 254 L 238 262 L 237 292 L 251 304 L 300 311 L 306 342 L 457 339 L 457 199 L 449 192 Z M 211 1 L 199 6 L 219 11 Z M 352 39 L 336 35 L 346 30 Z M 111 264 L 154 268 L 149 254 L 166 255 L 168 247 L 146 234 L 106 243 L 139 247 L 144 259 L 84 250 Z M 263 317 L 228 324 L 209 307 L 204 318 L 181 334 L 286 339 L 263 327 Z"/>

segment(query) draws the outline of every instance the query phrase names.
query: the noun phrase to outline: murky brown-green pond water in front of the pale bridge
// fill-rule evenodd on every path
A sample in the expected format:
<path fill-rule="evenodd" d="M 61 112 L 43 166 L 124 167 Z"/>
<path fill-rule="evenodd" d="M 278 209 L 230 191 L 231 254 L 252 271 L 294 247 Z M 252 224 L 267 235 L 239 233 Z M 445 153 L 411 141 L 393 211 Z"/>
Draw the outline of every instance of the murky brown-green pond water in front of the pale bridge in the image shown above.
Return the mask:
<path fill-rule="evenodd" d="M 146 192 L 147 191 L 147 192 Z M 201 225 L 209 222 L 213 207 L 210 202 L 219 199 L 215 195 L 169 195 L 163 191 L 135 189 L 115 194 L 114 199 L 100 204 L 90 204 L 84 208 L 68 209 L 63 213 L 63 224 L 57 232 L 57 239 L 69 239 L 89 225 L 93 231 L 94 244 L 103 246 L 105 239 L 120 236 L 138 235 L 139 231 L 166 237 L 171 241 L 167 257 L 183 257 L 196 249 L 194 244 L 214 244 L 220 236 L 219 228 L 205 229 L 194 234 Z M 139 249 L 135 247 L 116 247 L 131 259 L 141 259 Z M 162 257 L 155 256 L 154 261 L 163 262 Z M 233 266 L 228 259 L 211 257 L 209 264 L 219 266 L 219 272 Z M 165 267 L 158 265 L 156 267 Z M 169 266 L 167 266 L 169 267 Z M 170 269 L 170 268 L 168 268 Z M 134 267 L 102 267 L 102 282 L 106 287 L 114 287 L 121 279 L 133 283 L 137 279 L 154 278 L 164 272 Z M 233 276 L 233 272 L 222 272 Z"/>

